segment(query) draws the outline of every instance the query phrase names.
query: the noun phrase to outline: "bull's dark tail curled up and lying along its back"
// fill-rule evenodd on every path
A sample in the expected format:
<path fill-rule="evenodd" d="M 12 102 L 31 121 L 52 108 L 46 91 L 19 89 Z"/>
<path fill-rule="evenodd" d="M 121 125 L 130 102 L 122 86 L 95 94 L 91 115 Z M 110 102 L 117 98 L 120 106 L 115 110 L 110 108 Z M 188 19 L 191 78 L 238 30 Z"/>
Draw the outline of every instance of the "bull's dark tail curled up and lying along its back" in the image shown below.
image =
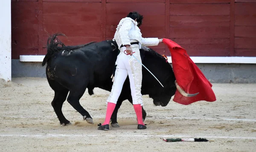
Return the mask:
<path fill-rule="evenodd" d="M 44 66 L 46 64 L 46 62 L 50 59 L 50 57 L 52 56 L 52 54 L 54 54 L 55 52 L 61 51 L 61 50 L 75 50 L 75 49 L 79 49 L 82 48 L 84 46 L 90 45 L 94 42 L 89 42 L 87 44 L 84 45 L 76 45 L 76 46 L 65 46 L 64 43 L 62 43 L 57 36 L 65 36 L 65 34 L 62 33 L 56 33 L 53 34 L 52 36 L 50 36 L 47 40 L 47 53 L 44 56 L 44 60 L 42 63 L 42 66 Z"/>

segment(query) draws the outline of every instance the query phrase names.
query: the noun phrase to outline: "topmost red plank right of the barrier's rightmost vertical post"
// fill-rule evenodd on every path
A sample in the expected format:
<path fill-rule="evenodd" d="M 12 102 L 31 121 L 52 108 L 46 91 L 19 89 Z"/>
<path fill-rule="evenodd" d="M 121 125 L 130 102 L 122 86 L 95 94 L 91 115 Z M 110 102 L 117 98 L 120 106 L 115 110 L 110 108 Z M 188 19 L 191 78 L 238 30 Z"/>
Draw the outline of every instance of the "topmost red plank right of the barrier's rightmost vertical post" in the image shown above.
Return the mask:
<path fill-rule="evenodd" d="M 256 3 L 235 3 L 236 15 L 256 15 Z"/>

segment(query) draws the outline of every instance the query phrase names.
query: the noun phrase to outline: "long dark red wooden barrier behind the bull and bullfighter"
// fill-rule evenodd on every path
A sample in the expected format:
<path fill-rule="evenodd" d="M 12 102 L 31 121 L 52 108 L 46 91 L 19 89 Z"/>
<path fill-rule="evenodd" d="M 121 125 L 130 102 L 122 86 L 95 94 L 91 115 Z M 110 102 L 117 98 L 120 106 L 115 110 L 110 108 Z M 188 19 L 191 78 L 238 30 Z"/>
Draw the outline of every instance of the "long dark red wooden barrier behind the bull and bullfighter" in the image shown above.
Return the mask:
<path fill-rule="evenodd" d="M 12 59 L 44 55 L 49 34 L 66 45 L 112 39 L 129 11 L 143 37 L 169 38 L 189 56 L 256 56 L 256 0 L 12 0 Z M 47 33 L 48 32 L 48 33 Z M 154 46 L 169 56 L 166 46 Z"/>

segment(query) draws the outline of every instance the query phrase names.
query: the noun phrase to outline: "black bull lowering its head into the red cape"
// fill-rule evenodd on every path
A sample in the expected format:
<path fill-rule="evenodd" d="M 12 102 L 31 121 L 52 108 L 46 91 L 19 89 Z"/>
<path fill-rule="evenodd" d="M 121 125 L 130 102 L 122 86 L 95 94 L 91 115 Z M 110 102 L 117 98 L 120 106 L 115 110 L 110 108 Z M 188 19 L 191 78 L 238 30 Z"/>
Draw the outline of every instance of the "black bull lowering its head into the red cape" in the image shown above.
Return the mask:
<path fill-rule="evenodd" d="M 62 105 L 67 98 L 71 106 L 76 109 L 83 119 L 93 124 L 90 114 L 84 110 L 79 103 L 86 88 L 90 95 L 93 89 L 99 87 L 111 91 L 113 67 L 118 55 L 116 43 L 112 41 L 91 42 L 85 45 L 65 46 L 54 34 L 47 42 L 47 54 L 44 57 L 42 66 L 47 62 L 46 76 L 50 87 L 55 95 L 52 100 L 52 107 L 58 116 L 60 124 L 70 124 L 63 113 Z M 166 59 L 150 48 L 143 47 L 140 50 L 143 64 L 159 79 L 159 82 L 143 68 L 143 81 L 141 93 L 149 95 L 156 106 L 166 106 L 175 94 L 176 83 L 172 66 Z M 175 85 L 176 84 L 176 85 Z M 179 90 L 180 92 L 182 90 Z M 67 97 L 69 93 L 69 96 Z M 184 93 L 185 96 L 188 94 Z M 122 101 L 128 99 L 132 103 L 129 78 L 125 80 L 121 95 L 116 104 L 116 108 L 111 116 L 111 125 L 119 127 L 117 123 L 117 112 Z M 144 101 L 145 102 L 145 101 Z M 143 120 L 146 112 L 143 109 Z"/>

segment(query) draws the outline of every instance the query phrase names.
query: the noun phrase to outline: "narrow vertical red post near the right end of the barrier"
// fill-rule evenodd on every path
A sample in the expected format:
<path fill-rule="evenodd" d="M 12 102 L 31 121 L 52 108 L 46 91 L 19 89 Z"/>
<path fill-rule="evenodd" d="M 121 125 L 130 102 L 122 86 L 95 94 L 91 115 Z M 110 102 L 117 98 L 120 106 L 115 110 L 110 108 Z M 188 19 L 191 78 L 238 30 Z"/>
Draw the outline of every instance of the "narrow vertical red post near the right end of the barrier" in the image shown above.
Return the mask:
<path fill-rule="evenodd" d="M 230 56 L 234 56 L 235 47 L 235 0 L 230 1 Z"/>

